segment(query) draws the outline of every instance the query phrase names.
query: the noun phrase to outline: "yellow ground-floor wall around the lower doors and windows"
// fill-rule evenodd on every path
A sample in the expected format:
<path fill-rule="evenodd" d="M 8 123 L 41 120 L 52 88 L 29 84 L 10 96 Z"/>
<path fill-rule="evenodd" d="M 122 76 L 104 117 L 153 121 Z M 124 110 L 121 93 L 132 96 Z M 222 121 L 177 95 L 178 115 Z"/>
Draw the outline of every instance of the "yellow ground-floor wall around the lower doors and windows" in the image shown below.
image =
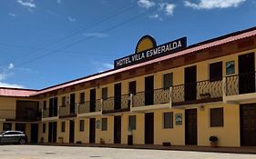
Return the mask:
<path fill-rule="evenodd" d="M 223 124 L 220 126 L 211 126 L 210 110 L 213 108 L 222 108 L 223 110 Z M 220 146 L 240 146 L 240 105 L 239 104 L 201 104 L 189 107 L 177 107 L 172 109 L 152 110 L 147 113 L 153 113 L 153 144 L 170 143 L 173 145 L 186 144 L 186 112 L 190 109 L 196 110 L 197 121 L 197 145 L 210 145 L 209 138 L 211 135 L 218 137 L 218 145 Z M 164 126 L 164 114 L 171 113 L 171 126 L 166 128 Z M 94 116 L 95 118 L 95 143 L 100 144 L 104 141 L 105 144 L 115 143 L 115 116 L 119 115 L 121 120 L 120 126 L 120 144 L 128 144 L 128 134 L 133 136 L 133 144 L 145 144 L 145 112 L 140 113 L 120 113 L 120 114 L 104 114 Z M 136 128 L 129 131 L 129 116 L 136 116 Z M 102 129 L 102 120 L 107 118 L 107 129 Z M 81 120 L 83 121 L 81 123 Z M 106 120 L 106 119 L 105 119 Z M 88 144 L 90 143 L 90 118 L 68 118 L 57 119 L 56 124 L 56 142 L 58 138 L 62 138 L 64 143 L 69 143 L 70 137 L 70 121 L 75 122 L 74 128 L 74 143 Z M 44 142 L 48 142 L 48 124 L 47 121 L 39 124 L 39 141 L 44 138 Z M 43 133 L 43 124 L 46 124 L 45 133 Z M 81 124 L 84 124 L 81 128 Z M 65 128 L 63 126 L 65 125 Z M 29 126 L 29 125 L 28 125 Z M 1 124 L 0 124 L 0 127 Z M 29 129 L 29 128 L 28 128 Z M 29 132 L 27 132 L 29 134 Z"/>

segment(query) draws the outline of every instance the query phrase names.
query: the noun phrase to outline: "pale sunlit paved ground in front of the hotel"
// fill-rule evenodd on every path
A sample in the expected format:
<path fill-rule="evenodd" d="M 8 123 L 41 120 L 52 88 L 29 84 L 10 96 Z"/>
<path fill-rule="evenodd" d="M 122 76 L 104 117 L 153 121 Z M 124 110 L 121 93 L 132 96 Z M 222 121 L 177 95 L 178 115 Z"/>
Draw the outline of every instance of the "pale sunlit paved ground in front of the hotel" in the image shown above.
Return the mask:
<path fill-rule="evenodd" d="M 0 145 L 0 159 L 256 159 L 256 154 L 223 154 L 98 147 Z"/>

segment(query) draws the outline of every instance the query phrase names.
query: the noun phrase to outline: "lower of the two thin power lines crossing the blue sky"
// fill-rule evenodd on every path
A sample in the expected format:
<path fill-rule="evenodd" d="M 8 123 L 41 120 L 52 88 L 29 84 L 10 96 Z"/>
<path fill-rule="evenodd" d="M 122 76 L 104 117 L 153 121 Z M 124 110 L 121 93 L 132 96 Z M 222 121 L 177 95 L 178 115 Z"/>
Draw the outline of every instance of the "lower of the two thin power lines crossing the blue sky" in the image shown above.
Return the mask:
<path fill-rule="evenodd" d="M 157 9 L 154 9 L 152 12 L 155 12 L 156 10 L 157 10 Z M 151 11 L 151 10 L 148 10 L 148 12 L 149 12 L 149 11 Z M 143 15 L 147 15 L 148 12 L 142 13 L 142 14 L 137 15 L 137 16 L 133 16 L 133 17 L 129 18 L 128 20 L 119 23 L 118 25 L 114 25 L 114 26 L 112 26 L 112 27 L 110 27 L 110 28 L 108 28 L 108 29 L 102 30 L 100 33 L 106 33 L 106 32 L 109 32 L 109 31 L 111 31 L 111 30 L 114 30 L 114 29 L 118 28 L 119 26 L 125 25 L 125 24 L 127 24 L 128 22 L 131 22 L 131 21 L 133 21 L 133 20 L 136 20 L 136 19 L 138 19 L 139 17 L 141 17 L 141 16 L 143 16 Z M 77 42 L 71 43 L 71 44 L 66 45 L 66 46 L 64 46 L 64 47 L 61 47 L 61 48 L 59 48 L 59 49 L 56 49 L 56 50 L 54 50 L 54 51 L 52 51 L 52 52 L 46 53 L 45 55 L 40 55 L 40 56 L 37 56 L 36 58 L 32 58 L 32 59 L 30 59 L 30 60 L 27 60 L 26 62 L 21 63 L 21 64 L 19 64 L 19 65 L 17 65 L 17 66 L 26 65 L 27 63 L 30 63 L 30 62 L 32 62 L 32 61 L 36 61 L 36 60 L 39 60 L 39 59 L 41 59 L 41 58 L 44 58 L 44 57 L 46 57 L 46 56 L 48 56 L 48 55 L 55 54 L 55 53 L 57 53 L 57 52 L 59 52 L 59 51 L 61 51 L 61 50 L 67 49 L 68 47 L 71 47 L 71 46 L 73 46 L 73 45 L 80 44 L 80 43 L 82 43 L 82 42 L 84 42 L 84 41 L 86 41 L 86 40 L 89 40 L 89 39 L 93 38 L 93 37 L 94 37 L 94 36 L 89 36 L 89 37 L 87 37 L 87 38 L 83 38 L 83 39 L 81 39 L 81 40 L 78 40 Z"/>

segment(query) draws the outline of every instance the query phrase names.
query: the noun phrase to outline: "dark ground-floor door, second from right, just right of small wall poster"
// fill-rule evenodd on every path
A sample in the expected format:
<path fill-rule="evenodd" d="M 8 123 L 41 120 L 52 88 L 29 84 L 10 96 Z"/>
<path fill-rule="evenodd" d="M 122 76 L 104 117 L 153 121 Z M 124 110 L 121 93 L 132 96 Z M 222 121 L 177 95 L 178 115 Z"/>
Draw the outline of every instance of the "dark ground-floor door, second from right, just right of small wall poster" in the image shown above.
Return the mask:
<path fill-rule="evenodd" d="M 197 109 L 185 110 L 185 144 L 198 144 Z"/>

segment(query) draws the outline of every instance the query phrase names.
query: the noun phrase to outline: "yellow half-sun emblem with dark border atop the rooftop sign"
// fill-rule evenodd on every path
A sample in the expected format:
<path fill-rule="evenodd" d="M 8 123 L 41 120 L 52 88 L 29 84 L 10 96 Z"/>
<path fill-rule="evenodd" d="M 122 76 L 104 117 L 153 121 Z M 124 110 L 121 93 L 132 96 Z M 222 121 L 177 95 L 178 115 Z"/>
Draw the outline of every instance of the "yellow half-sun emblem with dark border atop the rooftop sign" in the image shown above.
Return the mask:
<path fill-rule="evenodd" d="M 152 36 L 144 35 L 143 37 L 141 37 L 139 39 L 138 44 L 135 49 L 135 53 L 140 53 L 145 50 L 154 48 L 156 46 L 157 46 L 157 42 Z"/>

